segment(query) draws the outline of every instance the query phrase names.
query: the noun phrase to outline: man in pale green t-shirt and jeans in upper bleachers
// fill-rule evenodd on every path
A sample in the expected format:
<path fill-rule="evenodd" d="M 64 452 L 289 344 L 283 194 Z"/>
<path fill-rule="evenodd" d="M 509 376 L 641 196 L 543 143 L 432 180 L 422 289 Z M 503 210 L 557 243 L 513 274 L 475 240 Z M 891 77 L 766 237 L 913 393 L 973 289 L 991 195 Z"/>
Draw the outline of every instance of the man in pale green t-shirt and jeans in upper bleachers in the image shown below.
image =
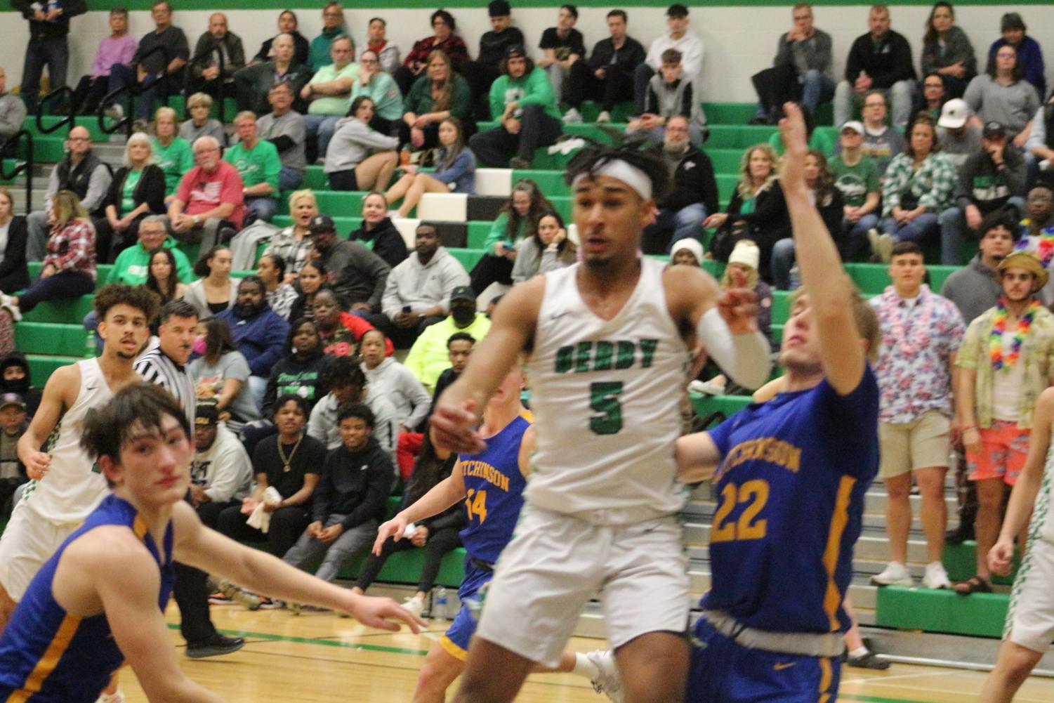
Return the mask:
<path fill-rule="evenodd" d="M 330 43 L 333 62 L 315 71 L 315 75 L 300 90 L 300 98 L 308 101 L 308 114 L 304 116 L 308 139 L 318 138 L 318 156 L 326 156 L 330 139 L 336 130 L 336 121 L 348 112 L 351 86 L 358 75 L 355 63 L 355 42 L 341 35 Z"/>

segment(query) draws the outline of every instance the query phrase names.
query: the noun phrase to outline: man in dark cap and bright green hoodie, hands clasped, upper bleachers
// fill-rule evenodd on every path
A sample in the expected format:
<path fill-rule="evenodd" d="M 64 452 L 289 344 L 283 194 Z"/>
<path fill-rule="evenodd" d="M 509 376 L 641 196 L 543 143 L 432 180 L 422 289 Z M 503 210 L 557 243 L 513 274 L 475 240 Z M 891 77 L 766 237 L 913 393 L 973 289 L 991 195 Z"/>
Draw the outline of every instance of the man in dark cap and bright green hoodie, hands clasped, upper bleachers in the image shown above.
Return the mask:
<path fill-rule="evenodd" d="M 564 131 L 557 96 L 523 44 L 506 50 L 501 71 L 490 86 L 490 115 L 499 125 L 473 135 L 469 145 L 484 165 L 529 169 L 534 150 L 555 143 Z"/>

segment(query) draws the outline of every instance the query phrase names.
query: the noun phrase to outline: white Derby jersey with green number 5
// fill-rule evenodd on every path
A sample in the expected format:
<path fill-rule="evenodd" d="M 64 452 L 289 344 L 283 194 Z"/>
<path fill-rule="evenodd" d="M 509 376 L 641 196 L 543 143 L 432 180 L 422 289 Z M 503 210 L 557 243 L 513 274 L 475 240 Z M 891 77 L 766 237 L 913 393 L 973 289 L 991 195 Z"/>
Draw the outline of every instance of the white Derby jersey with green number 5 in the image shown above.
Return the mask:
<path fill-rule="evenodd" d="M 636 290 L 607 321 L 579 294 L 580 266 L 545 274 L 526 368 L 538 433 L 526 499 L 593 524 L 676 513 L 689 352 L 666 307 L 664 265 L 642 258 Z"/>

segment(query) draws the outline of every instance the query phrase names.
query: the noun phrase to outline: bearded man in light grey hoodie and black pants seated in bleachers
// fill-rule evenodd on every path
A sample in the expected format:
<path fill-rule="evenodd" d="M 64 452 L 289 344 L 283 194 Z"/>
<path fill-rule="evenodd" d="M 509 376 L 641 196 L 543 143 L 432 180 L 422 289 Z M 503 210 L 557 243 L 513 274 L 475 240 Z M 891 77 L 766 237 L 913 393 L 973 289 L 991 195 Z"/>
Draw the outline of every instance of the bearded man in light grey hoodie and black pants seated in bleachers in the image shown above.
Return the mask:
<path fill-rule="evenodd" d="M 450 252 L 440 246 L 435 224 L 422 222 L 414 237 L 414 253 L 388 274 L 379 315 L 369 315 L 396 349 L 413 346 L 426 327 L 450 312 L 450 294 L 468 286 L 469 275 Z"/>

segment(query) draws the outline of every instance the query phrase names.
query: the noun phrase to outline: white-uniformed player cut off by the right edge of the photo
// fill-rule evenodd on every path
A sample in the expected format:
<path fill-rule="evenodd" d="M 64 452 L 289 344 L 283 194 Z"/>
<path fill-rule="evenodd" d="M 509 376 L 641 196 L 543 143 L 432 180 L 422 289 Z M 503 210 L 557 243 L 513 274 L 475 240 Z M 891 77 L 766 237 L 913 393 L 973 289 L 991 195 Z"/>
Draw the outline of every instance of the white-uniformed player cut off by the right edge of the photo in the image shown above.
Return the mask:
<path fill-rule="evenodd" d="M 1010 703 L 1054 640 L 1054 388 L 1036 402 L 1024 468 L 1014 484 L 999 539 L 988 553 L 989 568 L 1006 575 L 1014 559 L 1014 538 L 1032 514 L 1029 544 L 1014 578 L 1002 645 L 981 688 L 980 703 Z"/>

